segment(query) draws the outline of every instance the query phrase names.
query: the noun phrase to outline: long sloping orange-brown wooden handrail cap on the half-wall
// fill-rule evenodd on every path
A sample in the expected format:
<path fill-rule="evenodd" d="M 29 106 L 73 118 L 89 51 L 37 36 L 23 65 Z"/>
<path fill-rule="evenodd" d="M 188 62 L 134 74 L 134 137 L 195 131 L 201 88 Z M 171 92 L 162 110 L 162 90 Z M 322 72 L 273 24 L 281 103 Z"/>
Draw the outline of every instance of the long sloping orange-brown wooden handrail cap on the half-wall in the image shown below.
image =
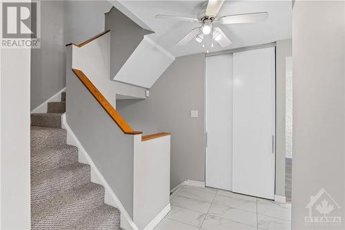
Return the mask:
<path fill-rule="evenodd" d="M 77 70 L 75 68 L 72 68 L 73 73 L 77 75 L 79 80 L 83 83 L 83 85 L 90 91 L 93 97 L 101 104 L 101 106 L 104 108 L 104 110 L 108 113 L 108 115 L 114 120 L 114 122 L 121 128 L 121 131 L 123 131 L 126 134 L 135 135 L 140 134 L 142 132 L 133 131 L 132 128 L 129 126 L 129 124 L 124 120 L 124 118 L 121 117 L 121 115 L 115 110 L 114 107 L 108 102 L 106 97 L 104 97 L 101 92 L 96 88 L 94 84 L 86 77 L 86 75 L 81 70 Z"/>

